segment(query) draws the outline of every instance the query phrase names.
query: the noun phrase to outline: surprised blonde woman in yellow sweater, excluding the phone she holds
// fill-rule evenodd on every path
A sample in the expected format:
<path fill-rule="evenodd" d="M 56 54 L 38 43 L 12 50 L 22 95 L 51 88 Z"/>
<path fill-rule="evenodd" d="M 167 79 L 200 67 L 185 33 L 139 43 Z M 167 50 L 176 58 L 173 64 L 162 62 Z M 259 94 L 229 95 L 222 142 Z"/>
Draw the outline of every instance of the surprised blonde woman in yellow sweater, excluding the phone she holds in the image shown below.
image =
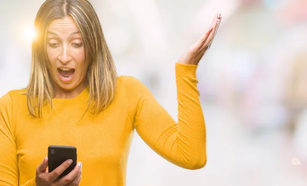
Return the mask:
<path fill-rule="evenodd" d="M 176 63 L 179 122 L 137 79 L 117 77 L 99 19 L 86 0 L 47 0 L 35 19 L 27 89 L 0 99 L 0 185 L 125 185 L 134 129 L 155 152 L 185 169 L 206 164 L 206 130 L 196 88 L 198 63 L 221 14 Z M 48 172 L 49 145 L 78 149 Z M 82 165 L 84 165 L 82 167 Z"/>

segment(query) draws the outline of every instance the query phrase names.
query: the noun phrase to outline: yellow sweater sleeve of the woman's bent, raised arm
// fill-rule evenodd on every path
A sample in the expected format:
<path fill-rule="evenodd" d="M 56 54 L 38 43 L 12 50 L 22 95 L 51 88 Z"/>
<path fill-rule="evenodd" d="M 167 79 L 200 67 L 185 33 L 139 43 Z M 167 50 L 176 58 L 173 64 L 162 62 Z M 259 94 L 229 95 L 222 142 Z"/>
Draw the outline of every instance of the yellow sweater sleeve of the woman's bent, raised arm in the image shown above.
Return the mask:
<path fill-rule="evenodd" d="M 196 68 L 176 63 L 178 123 L 139 80 L 133 77 L 122 80 L 127 111 L 140 137 L 172 164 L 191 170 L 203 168 L 207 161 L 206 127 L 196 87 Z"/>

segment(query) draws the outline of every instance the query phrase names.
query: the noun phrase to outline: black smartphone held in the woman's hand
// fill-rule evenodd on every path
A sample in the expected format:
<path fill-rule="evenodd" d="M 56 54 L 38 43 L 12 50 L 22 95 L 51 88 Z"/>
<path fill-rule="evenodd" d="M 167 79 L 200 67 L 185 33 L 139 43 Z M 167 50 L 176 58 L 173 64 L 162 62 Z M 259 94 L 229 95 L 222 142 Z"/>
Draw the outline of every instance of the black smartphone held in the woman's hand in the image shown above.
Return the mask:
<path fill-rule="evenodd" d="M 77 148 L 74 146 L 51 145 L 48 147 L 48 172 L 52 172 L 64 161 L 72 159 L 73 163 L 58 178 L 70 173 L 77 165 Z"/>

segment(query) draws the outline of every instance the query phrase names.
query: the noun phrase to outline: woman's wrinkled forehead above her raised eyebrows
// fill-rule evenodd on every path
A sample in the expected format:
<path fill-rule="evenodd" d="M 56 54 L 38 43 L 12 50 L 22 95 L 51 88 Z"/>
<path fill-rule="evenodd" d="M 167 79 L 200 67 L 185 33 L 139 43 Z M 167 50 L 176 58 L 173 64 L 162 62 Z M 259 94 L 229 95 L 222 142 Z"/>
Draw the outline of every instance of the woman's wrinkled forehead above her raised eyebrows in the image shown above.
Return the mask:
<path fill-rule="evenodd" d="M 75 21 L 70 16 L 61 19 L 54 19 L 48 27 L 48 32 L 56 33 L 58 35 L 66 35 L 78 31 L 79 29 Z"/>

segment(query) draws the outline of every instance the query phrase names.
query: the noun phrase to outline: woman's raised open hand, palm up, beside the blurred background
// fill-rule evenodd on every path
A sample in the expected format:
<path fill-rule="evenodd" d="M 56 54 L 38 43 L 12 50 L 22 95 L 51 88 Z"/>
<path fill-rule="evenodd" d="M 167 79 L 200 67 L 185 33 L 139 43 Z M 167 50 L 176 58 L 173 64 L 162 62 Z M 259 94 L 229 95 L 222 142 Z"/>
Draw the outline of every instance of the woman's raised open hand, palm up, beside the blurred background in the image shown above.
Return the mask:
<path fill-rule="evenodd" d="M 210 48 L 211 42 L 214 39 L 218 26 L 221 24 L 221 13 L 214 16 L 212 24 L 209 29 L 202 35 L 202 37 L 193 43 L 191 47 L 178 60 L 178 63 L 198 65 L 204 54 Z"/>

